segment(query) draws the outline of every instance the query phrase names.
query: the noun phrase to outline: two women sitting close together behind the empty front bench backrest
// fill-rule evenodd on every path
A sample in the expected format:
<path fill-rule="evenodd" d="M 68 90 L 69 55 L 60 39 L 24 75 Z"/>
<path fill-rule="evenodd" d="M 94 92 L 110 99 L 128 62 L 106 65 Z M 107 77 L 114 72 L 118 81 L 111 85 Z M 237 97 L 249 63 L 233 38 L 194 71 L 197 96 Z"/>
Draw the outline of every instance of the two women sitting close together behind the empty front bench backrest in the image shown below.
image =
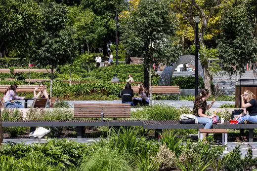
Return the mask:
<path fill-rule="evenodd" d="M 148 105 L 150 102 L 150 94 L 143 83 L 137 85 L 139 97 L 133 97 L 134 92 L 129 82 L 125 88 L 119 93 L 118 97 L 122 98 L 122 103 L 129 103 L 131 106 Z"/>

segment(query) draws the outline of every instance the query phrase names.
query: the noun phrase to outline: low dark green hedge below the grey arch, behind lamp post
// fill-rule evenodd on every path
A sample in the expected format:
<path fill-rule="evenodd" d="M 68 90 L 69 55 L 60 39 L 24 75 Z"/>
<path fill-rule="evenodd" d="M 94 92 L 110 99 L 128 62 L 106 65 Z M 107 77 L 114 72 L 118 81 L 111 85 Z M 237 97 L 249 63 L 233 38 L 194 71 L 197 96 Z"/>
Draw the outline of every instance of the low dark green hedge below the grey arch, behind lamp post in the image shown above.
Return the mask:
<path fill-rule="evenodd" d="M 179 89 L 194 89 L 195 77 L 194 76 L 176 76 L 171 80 L 171 85 L 179 86 Z M 202 77 L 199 77 L 198 81 L 199 89 L 204 88 L 204 81 Z"/>

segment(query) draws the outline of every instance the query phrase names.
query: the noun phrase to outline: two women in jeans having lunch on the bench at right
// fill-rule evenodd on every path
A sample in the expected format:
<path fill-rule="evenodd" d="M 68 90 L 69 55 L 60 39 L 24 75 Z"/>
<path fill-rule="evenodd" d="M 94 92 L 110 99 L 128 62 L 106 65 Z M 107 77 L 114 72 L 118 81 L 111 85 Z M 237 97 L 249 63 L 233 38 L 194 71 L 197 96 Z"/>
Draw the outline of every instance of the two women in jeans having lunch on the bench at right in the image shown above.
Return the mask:
<path fill-rule="evenodd" d="M 238 120 L 239 124 L 257 123 L 257 101 L 254 99 L 254 96 L 255 95 L 251 91 L 244 91 L 243 95 L 241 95 L 241 104 L 244 112 L 239 115 L 235 115 L 233 120 Z M 211 116 L 205 114 L 206 110 L 210 109 L 215 102 L 215 100 L 213 100 L 211 104 L 207 105 L 206 100 L 209 97 L 209 90 L 203 89 L 200 95 L 196 97 L 193 108 L 193 114 L 196 116 L 198 123 L 204 124 L 205 129 L 212 128 L 214 118 L 216 120 L 219 120 L 219 117 L 216 114 L 213 114 Z M 204 134 L 203 136 L 206 137 L 206 134 Z"/>

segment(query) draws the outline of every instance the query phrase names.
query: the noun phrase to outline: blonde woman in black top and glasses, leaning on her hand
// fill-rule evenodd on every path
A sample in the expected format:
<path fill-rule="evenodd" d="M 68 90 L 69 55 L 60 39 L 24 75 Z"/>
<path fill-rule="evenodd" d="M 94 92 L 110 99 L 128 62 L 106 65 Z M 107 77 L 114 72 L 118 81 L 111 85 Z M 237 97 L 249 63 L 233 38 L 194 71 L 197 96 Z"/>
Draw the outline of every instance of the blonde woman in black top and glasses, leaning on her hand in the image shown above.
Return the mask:
<path fill-rule="evenodd" d="M 257 101 L 254 99 L 254 94 L 246 90 L 241 95 L 241 105 L 244 108 L 244 112 L 240 115 L 236 115 L 234 120 L 238 120 L 239 124 L 256 124 L 257 123 Z M 246 114 L 248 111 L 248 115 Z"/>

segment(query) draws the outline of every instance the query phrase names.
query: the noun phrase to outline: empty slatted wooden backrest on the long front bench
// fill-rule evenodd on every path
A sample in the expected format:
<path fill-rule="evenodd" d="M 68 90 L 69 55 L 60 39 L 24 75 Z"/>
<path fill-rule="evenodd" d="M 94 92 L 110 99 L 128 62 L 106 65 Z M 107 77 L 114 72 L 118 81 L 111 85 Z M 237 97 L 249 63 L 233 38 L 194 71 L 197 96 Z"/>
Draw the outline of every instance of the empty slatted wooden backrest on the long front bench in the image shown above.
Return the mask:
<path fill-rule="evenodd" d="M 75 118 L 130 118 L 130 104 L 122 103 L 75 103 Z"/>

